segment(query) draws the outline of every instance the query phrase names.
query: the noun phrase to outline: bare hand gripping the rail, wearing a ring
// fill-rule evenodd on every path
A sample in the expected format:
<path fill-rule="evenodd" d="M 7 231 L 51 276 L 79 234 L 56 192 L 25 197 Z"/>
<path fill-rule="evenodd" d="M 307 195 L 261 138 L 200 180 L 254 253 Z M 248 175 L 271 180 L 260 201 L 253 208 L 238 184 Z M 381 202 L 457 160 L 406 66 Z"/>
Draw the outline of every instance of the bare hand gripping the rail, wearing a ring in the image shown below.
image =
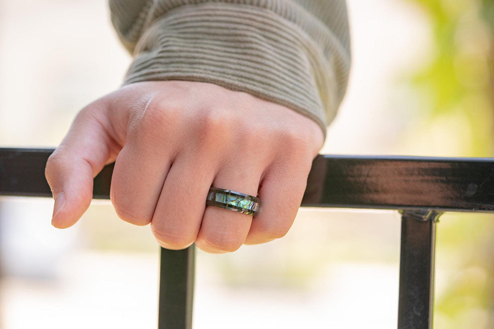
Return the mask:
<path fill-rule="evenodd" d="M 52 224 L 73 225 L 89 207 L 93 178 L 116 161 L 117 215 L 151 223 L 158 243 L 208 252 L 282 237 L 306 188 L 323 132 L 283 106 L 214 84 L 140 82 L 81 110 L 46 164 Z M 211 186 L 258 195 L 252 216 L 206 206 Z"/>

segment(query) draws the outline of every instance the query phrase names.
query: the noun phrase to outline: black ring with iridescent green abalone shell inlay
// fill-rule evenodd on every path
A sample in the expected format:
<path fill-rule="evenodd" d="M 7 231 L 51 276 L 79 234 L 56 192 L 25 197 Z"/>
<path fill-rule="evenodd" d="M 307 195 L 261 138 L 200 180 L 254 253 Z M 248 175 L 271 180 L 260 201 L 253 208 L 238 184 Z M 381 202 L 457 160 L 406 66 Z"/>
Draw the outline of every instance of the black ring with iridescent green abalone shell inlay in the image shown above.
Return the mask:
<path fill-rule="evenodd" d="M 211 187 L 209 189 L 206 205 L 230 209 L 235 212 L 252 216 L 259 213 L 258 198 L 232 190 L 220 189 L 218 187 Z"/>

